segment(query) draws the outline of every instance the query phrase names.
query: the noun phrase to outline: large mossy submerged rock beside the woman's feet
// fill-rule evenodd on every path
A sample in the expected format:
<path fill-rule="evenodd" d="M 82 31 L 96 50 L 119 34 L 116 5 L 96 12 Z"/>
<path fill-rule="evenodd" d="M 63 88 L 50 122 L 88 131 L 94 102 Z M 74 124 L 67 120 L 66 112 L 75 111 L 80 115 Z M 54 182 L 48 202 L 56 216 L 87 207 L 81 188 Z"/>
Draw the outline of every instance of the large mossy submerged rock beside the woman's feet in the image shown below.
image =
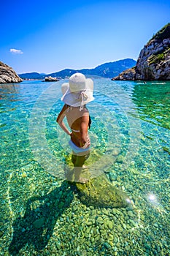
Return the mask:
<path fill-rule="evenodd" d="M 125 192 L 114 187 L 105 175 L 92 178 L 86 184 L 76 183 L 76 187 L 81 202 L 89 206 L 122 208 L 131 203 Z"/>

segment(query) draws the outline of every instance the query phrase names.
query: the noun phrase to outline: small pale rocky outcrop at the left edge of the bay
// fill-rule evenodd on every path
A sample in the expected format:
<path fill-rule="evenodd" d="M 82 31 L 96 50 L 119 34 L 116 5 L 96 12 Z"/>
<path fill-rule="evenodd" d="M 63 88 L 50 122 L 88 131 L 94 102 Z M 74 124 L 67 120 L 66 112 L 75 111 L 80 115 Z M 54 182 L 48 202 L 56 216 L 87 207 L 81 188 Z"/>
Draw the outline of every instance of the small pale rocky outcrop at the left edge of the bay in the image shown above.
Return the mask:
<path fill-rule="evenodd" d="M 22 79 L 16 74 L 12 67 L 0 61 L 0 83 L 19 83 Z"/>

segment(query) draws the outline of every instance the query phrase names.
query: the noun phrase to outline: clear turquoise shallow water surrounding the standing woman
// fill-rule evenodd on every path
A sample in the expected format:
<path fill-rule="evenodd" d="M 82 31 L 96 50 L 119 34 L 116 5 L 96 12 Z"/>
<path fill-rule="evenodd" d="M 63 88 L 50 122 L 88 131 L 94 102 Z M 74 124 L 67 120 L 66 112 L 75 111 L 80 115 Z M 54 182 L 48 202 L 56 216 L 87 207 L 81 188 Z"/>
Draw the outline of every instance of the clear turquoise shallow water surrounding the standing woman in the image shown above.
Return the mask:
<path fill-rule="evenodd" d="M 91 175 L 133 208 L 86 206 L 64 181 L 63 81 L 0 85 L 0 255 L 170 254 L 170 83 L 94 82 Z"/>

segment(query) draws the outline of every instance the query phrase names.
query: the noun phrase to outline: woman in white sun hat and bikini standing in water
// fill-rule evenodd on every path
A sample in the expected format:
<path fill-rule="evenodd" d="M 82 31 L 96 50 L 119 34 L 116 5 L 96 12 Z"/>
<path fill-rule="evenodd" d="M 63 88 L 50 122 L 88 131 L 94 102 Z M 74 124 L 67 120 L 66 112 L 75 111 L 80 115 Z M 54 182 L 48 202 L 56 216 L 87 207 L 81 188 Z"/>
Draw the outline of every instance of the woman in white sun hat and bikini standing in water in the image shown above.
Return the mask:
<path fill-rule="evenodd" d="M 65 103 L 58 115 L 57 122 L 60 127 L 70 136 L 69 146 L 72 148 L 72 163 L 74 169 L 67 178 L 71 179 L 74 173 L 74 181 L 85 183 L 87 180 L 80 177 L 82 165 L 90 153 L 90 138 L 88 137 L 88 127 L 90 127 L 90 116 L 86 104 L 93 98 L 93 80 L 86 79 L 85 75 L 75 73 L 69 78 L 69 83 L 61 86 Z M 66 116 L 69 129 L 63 123 Z"/>

